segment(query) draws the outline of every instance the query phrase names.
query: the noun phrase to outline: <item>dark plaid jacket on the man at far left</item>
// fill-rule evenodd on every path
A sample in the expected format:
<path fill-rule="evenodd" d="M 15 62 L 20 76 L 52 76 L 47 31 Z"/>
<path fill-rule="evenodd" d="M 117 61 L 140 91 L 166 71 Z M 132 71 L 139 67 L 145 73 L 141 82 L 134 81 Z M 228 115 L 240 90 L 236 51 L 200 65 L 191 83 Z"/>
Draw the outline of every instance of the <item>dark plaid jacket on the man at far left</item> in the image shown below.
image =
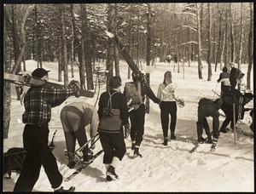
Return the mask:
<path fill-rule="evenodd" d="M 32 87 L 27 90 L 22 115 L 23 123 L 43 124 L 51 119 L 51 107 L 59 106 L 68 96 L 75 94 L 78 85 L 70 83 L 65 88 Z"/>

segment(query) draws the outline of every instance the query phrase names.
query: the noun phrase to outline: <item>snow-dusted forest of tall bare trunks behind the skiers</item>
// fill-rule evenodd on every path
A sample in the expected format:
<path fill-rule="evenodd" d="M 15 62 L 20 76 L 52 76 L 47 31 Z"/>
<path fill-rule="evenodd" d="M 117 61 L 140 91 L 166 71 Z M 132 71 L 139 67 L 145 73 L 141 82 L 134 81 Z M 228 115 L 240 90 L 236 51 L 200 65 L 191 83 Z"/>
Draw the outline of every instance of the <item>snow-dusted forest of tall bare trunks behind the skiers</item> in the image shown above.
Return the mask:
<path fill-rule="evenodd" d="M 119 37 L 139 68 L 143 63 L 154 66 L 155 59 L 165 61 L 170 54 L 177 59 L 177 72 L 184 62 L 189 66 L 196 61 L 198 78 L 211 81 L 217 68 L 247 64 L 246 88 L 251 89 L 253 3 L 7 3 L 3 71 L 26 71 L 25 60 L 37 60 L 38 67 L 56 62 L 58 81 L 67 85 L 73 66 L 79 66 L 81 88 L 93 90 L 97 64 L 106 66 L 108 82 L 119 76 L 123 60 L 105 31 Z M 202 75 L 202 60 L 207 61 L 207 75 Z M 129 78 L 128 66 L 127 71 Z M 20 100 L 20 88 L 16 91 Z M 10 83 L 4 82 L 3 138 L 8 138 L 10 94 Z"/>

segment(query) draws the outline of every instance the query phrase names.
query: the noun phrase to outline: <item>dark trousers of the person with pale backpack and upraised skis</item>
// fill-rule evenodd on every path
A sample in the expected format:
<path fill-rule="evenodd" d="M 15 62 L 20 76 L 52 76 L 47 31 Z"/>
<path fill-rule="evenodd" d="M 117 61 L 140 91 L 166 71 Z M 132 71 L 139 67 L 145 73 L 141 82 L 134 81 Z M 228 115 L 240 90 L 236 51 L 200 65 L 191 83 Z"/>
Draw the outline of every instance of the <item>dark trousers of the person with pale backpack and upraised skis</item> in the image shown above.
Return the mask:
<path fill-rule="evenodd" d="M 145 105 L 142 104 L 135 111 L 129 112 L 131 121 L 131 141 L 136 141 L 135 145 L 140 146 L 143 141 L 145 123 Z"/>

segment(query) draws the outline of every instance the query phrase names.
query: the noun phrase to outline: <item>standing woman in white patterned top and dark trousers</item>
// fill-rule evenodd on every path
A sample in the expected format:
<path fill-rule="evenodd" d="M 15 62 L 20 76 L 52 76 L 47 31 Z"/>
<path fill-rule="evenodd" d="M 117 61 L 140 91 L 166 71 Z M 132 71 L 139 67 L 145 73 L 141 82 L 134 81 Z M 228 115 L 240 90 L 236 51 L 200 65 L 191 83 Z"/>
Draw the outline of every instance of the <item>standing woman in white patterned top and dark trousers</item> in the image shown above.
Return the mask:
<path fill-rule="evenodd" d="M 174 95 L 175 88 L 175 85 L 172 83 L 172 72 L 166 71 L 164 82 L 160 83 L 157 93 L 157 97 L 161 100 L 160 118 L 164 135 L 163 145 L 167 145 L 168 141 L 169 114 L 171 115 L 171 140 L 176 140 L 175 128 L 177 122 L 177 103 Z"/>

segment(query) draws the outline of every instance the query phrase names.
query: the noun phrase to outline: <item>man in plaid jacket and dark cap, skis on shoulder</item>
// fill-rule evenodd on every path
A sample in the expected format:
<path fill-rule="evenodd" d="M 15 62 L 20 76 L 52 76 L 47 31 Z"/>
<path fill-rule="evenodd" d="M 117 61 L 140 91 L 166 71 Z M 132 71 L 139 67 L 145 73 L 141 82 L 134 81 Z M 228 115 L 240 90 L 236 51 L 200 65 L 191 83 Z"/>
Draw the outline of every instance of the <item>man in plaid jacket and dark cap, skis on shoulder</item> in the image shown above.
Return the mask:
<path fill-rule="evenodd" d="M 38 68 L 32 71 L 32 77 L 48 81 L 48 72 L 44 68 Z M 26 124 L 23 132 L 26 157 L 14 191 L 32 191 L 42 166 L 55 192 L 74 191 L 73 186 L 67 190 L 61 186 L 63 177 L 48 145 L 48 123 L 51 119 L 51 108 L 61 105 L 68 96 L 76 94 L 78 89 L 79 82 L 73 80 L 67 88 L 50 88 L 43 85 L 32 86 L 27 90 L 24 99 L 25 112 L 22 115 L 22 121 Z"/>

